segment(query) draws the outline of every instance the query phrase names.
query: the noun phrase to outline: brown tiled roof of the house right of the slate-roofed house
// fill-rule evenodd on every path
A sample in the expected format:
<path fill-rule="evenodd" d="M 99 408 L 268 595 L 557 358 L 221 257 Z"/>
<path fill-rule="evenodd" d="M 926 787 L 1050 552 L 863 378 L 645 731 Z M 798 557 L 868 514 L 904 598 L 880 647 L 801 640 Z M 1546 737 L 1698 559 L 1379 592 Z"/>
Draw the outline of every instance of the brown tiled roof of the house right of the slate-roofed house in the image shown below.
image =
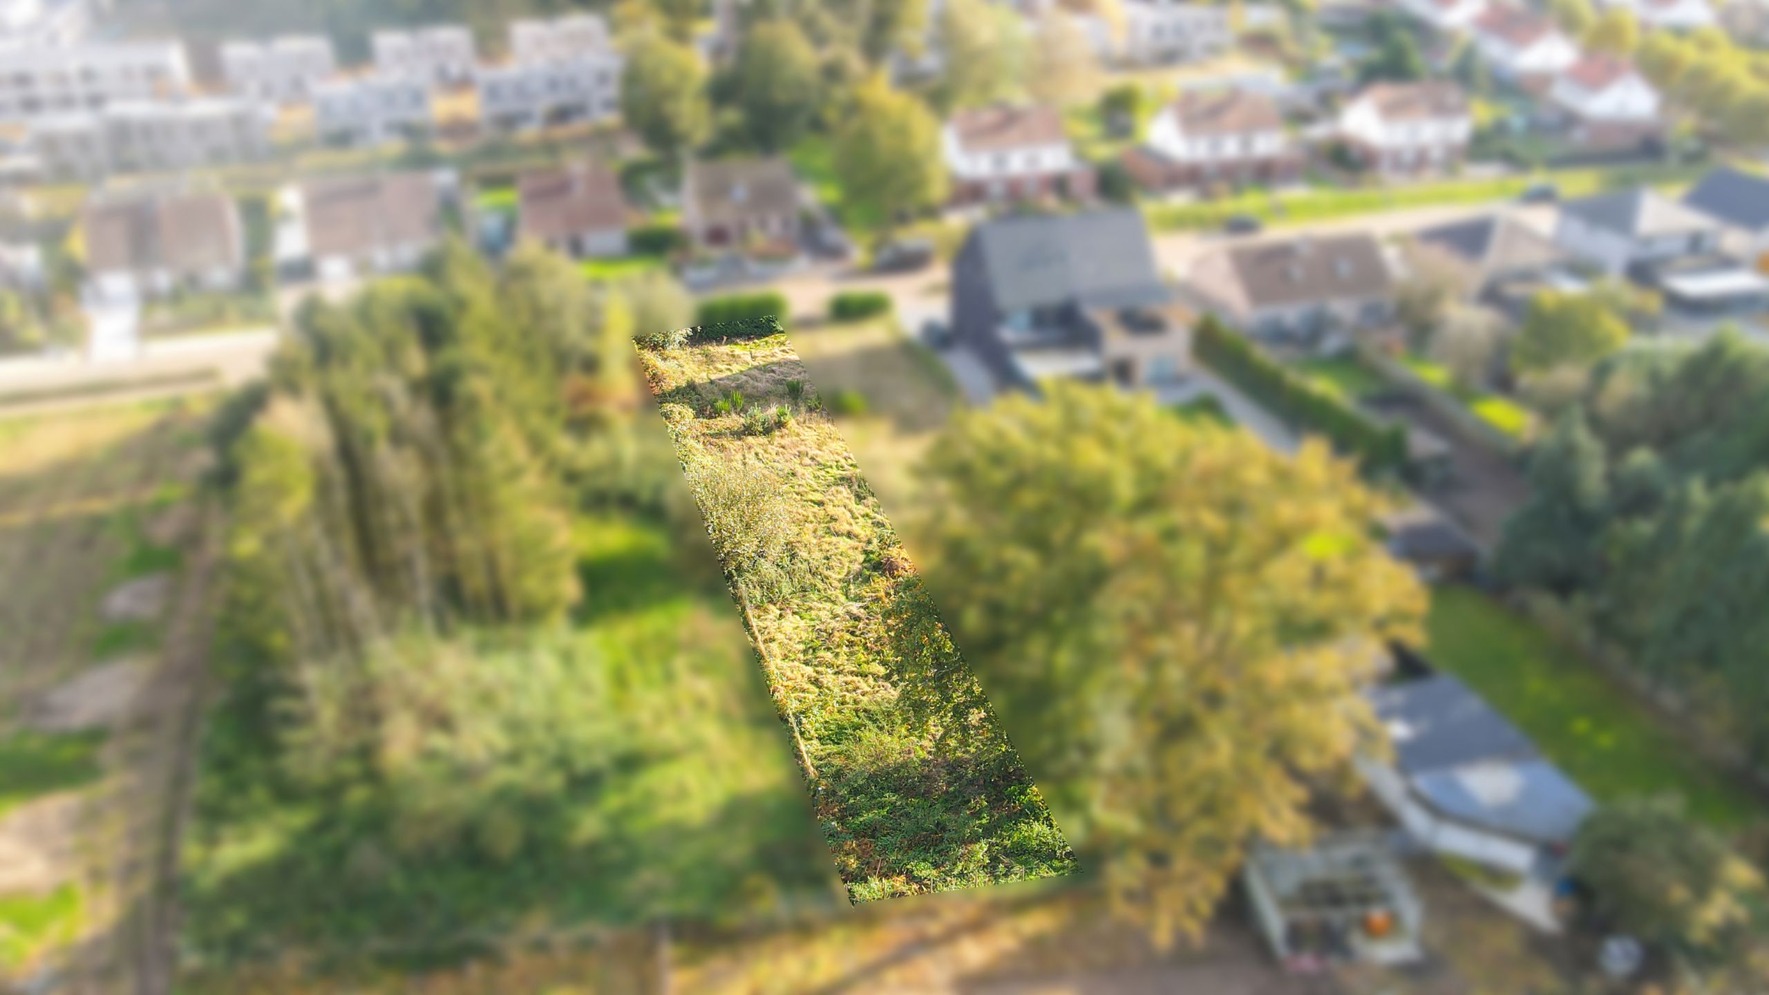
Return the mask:
<path fill-rule="evenodd" d="M 1229 253 L 1256 308 L 1357 301 L 1392 292 L 1382 246 L 1369 235 L 1260 243 Z"/>

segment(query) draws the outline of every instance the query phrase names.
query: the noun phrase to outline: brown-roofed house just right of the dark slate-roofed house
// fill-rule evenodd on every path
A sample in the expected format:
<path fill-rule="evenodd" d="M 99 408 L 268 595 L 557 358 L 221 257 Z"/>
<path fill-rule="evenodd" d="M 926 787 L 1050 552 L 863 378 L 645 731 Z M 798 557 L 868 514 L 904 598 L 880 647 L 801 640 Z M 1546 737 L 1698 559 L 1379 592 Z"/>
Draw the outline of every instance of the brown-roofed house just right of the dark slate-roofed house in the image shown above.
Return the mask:
<path fill-rule="evenodd" d="M 1394 315 L 1394 269 L 1367 234 L 1228 246 L 1198 260 L 1189 283 L 1254 336 L 1321 349 Z"/>

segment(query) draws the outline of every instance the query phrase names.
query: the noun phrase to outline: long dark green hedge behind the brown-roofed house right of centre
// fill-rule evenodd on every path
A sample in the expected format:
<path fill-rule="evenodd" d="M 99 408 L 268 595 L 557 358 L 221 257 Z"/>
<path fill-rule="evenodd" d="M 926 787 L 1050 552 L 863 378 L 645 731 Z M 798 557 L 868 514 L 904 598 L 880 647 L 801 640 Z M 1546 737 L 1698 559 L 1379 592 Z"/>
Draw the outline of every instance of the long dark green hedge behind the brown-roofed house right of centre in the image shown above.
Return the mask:
<path fill-rule="evenodd" d="M 1344 400 L 1284 368 L 1215 317 L 1198 322 L 1192 352 L 1290 425 L 1320 432 L 1367 471 L 1406 466 L 1406 430 L 1376 421 Z"/>

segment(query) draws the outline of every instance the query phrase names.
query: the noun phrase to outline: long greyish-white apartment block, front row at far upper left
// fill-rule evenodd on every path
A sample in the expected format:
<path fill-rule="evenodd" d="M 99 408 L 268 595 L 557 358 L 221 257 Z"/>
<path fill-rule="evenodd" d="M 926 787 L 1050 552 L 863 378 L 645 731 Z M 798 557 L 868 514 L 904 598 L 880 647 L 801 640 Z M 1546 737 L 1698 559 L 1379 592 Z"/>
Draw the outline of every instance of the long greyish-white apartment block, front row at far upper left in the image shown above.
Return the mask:
<path fill-rule="evenodd" d="M 39 119 L 30 142 L 44 174 L 92 181 L 258 159 L 271 150 L 271 120 L 239 99 L 119 101 Z"/>

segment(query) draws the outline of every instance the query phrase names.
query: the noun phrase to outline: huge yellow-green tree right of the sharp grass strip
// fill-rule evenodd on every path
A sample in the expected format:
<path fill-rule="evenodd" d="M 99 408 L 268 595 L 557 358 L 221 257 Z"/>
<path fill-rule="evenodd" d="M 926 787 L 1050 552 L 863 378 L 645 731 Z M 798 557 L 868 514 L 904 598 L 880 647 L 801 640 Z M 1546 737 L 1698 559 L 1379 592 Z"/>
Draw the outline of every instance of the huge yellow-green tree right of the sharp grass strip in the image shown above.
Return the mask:
<path fill-rule="evenodd" d="M 1359 690 L 1424 609 L 1382 499 L 1323 446 L 1079 384 L 961 416 L 927 467 L 930 582 L 1058 821 L 1157 937 L 1196 933 L 1376 737 Z"/>

